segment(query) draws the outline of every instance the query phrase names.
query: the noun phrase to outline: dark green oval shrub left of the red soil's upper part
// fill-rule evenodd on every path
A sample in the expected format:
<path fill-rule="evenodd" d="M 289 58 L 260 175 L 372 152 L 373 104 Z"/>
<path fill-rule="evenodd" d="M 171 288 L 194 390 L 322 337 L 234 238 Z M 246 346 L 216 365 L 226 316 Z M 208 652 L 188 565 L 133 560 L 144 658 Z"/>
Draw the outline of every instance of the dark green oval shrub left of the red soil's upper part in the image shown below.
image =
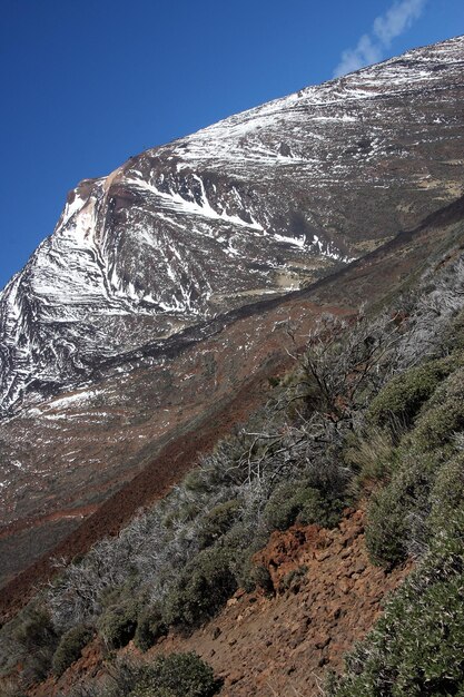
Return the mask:
<path fill-rule="evenodd" d="M 237 590 L 233 561 L 227 548 L 211 547 L 200 551 L 168 592 L 164 606 L 165 621 L 194 627 L 214 617 Z"/>

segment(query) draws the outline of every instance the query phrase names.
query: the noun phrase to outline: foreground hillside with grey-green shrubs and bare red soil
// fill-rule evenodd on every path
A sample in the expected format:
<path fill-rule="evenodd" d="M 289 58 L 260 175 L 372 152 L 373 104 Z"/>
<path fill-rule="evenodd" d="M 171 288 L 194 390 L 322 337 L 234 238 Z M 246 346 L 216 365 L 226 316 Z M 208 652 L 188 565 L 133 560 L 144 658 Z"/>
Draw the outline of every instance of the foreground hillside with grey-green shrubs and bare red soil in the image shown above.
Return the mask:
<path fill-rule="evenodd" d="M 319 316 L 266 404 L 168 495 L 68 549 L 1 629 L 4 694 L 217 694 L 194 649 L 225 697 L 458 695 L 463 249 L 458 202 L 313 288 L 322 303 L 383 284 L 364 313 Z"/>

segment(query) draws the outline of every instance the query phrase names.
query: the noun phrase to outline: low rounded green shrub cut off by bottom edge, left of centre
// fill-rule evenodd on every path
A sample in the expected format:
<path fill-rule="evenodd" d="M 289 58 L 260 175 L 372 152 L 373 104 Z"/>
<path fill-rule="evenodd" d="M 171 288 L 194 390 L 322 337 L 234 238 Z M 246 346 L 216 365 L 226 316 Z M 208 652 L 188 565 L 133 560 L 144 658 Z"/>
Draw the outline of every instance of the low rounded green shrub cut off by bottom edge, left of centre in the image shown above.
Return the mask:
<path fill-rule="evenodd" d="M 220 688 L 213 669 L 196 654 L 158 656 L 139 671 L 129 697 L 213 697 Z"/>

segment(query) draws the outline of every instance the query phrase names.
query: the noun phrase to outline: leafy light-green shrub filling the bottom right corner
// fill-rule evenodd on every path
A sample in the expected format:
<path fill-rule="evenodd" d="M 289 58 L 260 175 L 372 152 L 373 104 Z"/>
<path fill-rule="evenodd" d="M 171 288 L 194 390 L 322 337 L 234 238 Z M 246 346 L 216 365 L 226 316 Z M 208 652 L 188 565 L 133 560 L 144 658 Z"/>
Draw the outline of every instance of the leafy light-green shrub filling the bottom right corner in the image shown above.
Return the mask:
<path fill-rule="evenodd" d="M 461 514 L 461 534 L 463 522 Z M 347 674 L 339 681 L 333 680 L 329 695 L 464 694 L 462 539 L 437 539 L 428 558 L 388 602 L 371 635 L 348 657 Z"/>

